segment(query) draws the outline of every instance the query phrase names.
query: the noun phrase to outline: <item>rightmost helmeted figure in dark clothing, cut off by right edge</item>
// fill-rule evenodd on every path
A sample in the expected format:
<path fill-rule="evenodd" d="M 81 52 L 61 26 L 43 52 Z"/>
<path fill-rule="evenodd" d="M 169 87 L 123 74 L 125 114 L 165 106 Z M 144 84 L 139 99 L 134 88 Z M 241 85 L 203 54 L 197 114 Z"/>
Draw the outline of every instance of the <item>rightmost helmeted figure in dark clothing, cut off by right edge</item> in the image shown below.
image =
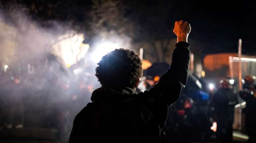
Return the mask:
<path fill-rule="evenodd" d="M 256 143 L 256 87 L 254 76 L 246 76 L 244 79 L 243 90 L 240 97 L 245 100 L 245 126 L 249 136 L 248 143 Z"/>

